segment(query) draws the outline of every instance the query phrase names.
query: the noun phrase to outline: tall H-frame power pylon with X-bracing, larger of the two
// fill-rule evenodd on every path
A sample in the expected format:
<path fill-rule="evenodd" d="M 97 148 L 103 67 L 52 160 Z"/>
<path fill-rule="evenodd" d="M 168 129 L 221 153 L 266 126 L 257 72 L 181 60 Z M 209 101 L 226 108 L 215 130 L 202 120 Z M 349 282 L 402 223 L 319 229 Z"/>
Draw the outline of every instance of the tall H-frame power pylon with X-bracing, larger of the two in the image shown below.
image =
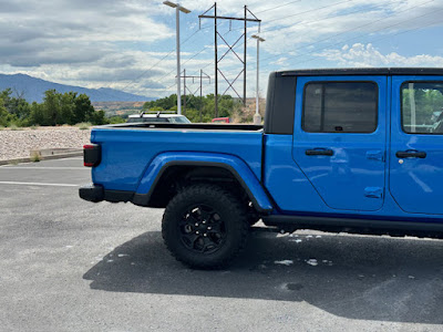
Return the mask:
<path fill-rule="evenodd" d="M 214 15 L 208 15 L 206 14 L 208 11 L 214 9 Z M 248 13 L 251 14 L 254 18 L 250 19 L 248 18 Z M 228 83 L 228 87 L 226 91 L 223 93 L 223 95 L 226 94 L 226 92 L 231 89 L 237 96 L 243 101 L 243 104 L 246 105 L 246 44 L 247 44 L 247 22 L 258 22 L 258 31 L 260 31 L 260 22 L 261 20 L 257 19 L 257 17 L 245 6 L 245 17 L 244 18 L 233 18 L 233 17 L 220 17 L 217 15 L 217 2 L 214 3 L 213 7 L 210 7 L 207 11 L 205 11 L 203 14 L 198 15 L 198 19 L 202 22 L 202 19 L 213 19 L 214 20 L 214 44 L 215 44 L 215 117 L 218 117 L 218 73 L 223 76 L 223 79 Z M 236 40 L 234 44 L 229 44 L 225 38 L 218 32 L 217 30 L 217 20 L 229 20 L 229 23 L 233 21 L 244 21 L 245 23 L 245 30 L 244 33 Z M 228 46 L 228 50 L 220 56 L 218 58 L 218 38 L 223 40 L 223 42 Z M 238 53 L 234 50 L 234 48 L 237 45 L 237 43 L 244 39 L 244 54 L 243 59 L 238 55 Z M 238 73 L 238 75 L 234 80 L 229 80 L 226 77 L 226 75 L 222 72 L 222 70 L 218 68 L 219 62 L 229 53 L 233 52 L 236 58 L 241 62 L 243 64 L 243 70 Z M 243 97 L 240 94 L 235 90 L 234 84 L 236 81 L 243 74 Z"/>

